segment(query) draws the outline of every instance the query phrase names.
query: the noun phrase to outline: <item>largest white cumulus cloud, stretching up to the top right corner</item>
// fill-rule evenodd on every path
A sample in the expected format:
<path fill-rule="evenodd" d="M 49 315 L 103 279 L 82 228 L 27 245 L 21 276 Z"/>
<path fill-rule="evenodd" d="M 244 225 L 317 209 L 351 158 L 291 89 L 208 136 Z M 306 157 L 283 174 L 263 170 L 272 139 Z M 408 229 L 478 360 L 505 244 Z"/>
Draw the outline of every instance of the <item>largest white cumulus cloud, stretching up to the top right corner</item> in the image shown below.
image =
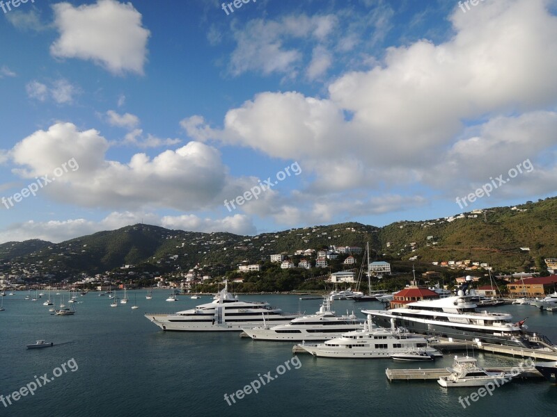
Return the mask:
<path fill-rule="evenodd" d="M 554 129 L 553 116 L 535 112 L 557 97 L 557 19 L 544 0 L 486 2 L 473 13 L 456 8 L 452 38 L 391 47 L 370 70 L 339 76 L 328 97 L 262 92 L 231 108 L 222 129 L 199 115 L 182 120 L 182 127 L 196 140 L 296 158 L 315 174 L 307 192 L 316 194 L 423 180 L 444 191 L 473 177 L 462 163 L 466 152 L 485 165 L 512 167 L 517 149 L 526 152 L 533 143 L 529 150 L 539 155 L 551 146 L 547 134 L 532 138 L 512 129 Z M 272 25 L 253 24 L 273 32 Z M 524 117 L 513 121 L 510 113 Z M 470 120 L 487 120 L 483 134 L 496 130 L 499 139 L 490 133 L 474 142 L 466 136 Z"/>

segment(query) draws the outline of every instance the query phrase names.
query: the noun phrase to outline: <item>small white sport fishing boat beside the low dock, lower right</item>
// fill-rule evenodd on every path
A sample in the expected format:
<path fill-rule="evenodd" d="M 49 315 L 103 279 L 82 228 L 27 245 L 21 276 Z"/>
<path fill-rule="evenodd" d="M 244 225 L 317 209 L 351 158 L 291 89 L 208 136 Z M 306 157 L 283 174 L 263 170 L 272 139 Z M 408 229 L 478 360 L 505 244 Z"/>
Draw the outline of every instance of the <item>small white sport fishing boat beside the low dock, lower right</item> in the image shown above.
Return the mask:
<path fill-rule="evenodd" d="M 492 372 L 478 367 L 476 358 L 457 357 L 453 368 L 447 368 L 450 375 L 439 377 L 437 382 L 445 388 L 459 386 L 484 386 L 494 379 L 512 379 L 517 374 L 506 372 Z"/>

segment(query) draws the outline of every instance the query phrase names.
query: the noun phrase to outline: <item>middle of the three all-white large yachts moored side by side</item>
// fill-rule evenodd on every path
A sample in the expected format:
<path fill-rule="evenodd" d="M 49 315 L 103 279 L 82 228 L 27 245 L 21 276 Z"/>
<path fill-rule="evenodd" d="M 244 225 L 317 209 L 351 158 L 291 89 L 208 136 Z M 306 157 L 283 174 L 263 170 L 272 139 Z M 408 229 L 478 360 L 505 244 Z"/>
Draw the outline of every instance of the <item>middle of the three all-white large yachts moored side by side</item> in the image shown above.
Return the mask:
<path fill-rule="evenodd" d="M 331 300 L 325 298 L 319 311 L 295 318 L 286 325 L 269 325 L 242 329 L 254 341 L 326 341 L 346 332 L 362 330 L 363 321 L 350 316 L 335 316 L 331 311 Z"/>

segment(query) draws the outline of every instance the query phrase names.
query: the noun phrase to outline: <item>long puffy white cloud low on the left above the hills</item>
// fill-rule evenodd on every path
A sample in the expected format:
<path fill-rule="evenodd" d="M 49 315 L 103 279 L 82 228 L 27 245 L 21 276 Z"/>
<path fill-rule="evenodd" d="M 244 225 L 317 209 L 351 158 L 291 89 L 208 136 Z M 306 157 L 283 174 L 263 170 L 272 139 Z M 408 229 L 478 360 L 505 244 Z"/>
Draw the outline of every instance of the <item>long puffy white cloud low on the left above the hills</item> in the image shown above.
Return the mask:
<path fill-rule="evenodd" d="M 147 142 L 157 142 L 149 137 Z M 134 154 L 129 162 L 105 159 L 109 142 L 95 129 L 79 131 L 74 124 L 56 123 L 18 142 L 11 157 L 21 167 L 19 177 L 51 174 L 75 158 L 79 170 L 65 174 L 43 190 L 56 202 L 116 210 L 174 208 L 196 211 L 221 206 L 240 195 L 248 179 L 230 177 L 217 149 L 189 142 L 150 158 Z"/>

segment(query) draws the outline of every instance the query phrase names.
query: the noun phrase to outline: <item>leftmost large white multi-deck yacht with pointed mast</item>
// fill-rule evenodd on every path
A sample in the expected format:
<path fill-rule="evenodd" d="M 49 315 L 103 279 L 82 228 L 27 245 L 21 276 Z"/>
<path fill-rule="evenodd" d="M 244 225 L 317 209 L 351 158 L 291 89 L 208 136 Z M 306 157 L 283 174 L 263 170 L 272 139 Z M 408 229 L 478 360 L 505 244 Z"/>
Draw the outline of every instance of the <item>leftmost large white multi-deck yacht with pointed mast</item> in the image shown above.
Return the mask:
<path fill-rule="evenodd" d="M 244 302 L 228 292 L 228 282 L 212 302 L 174 314 L 146 314 L 163 330 L 182 332 L 240 332 L 269 323 L 286 324 L 296 315 L 283 315 L 267 302 Z"/>

